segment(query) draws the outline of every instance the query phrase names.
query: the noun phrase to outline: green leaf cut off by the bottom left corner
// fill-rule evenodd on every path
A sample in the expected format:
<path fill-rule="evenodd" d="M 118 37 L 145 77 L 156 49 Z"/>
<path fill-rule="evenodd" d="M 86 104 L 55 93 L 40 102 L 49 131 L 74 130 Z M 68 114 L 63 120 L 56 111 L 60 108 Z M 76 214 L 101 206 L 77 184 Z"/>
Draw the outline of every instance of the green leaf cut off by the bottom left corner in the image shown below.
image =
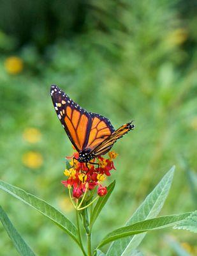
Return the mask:
<path fill-rule="evenodd" d="M 31 248 L 27 245 L 27 243 L 22 239 L 16 228 L 11 223 L 10 219 L 6 212 L 3 211 L 0 206 L 0 220 L 3 224 L 8 236 L 10 236 L 11 241 L 13 242 L 15 248 L 18 253 L 22 256 L 35 256 L 36 254 L 31 250 Z"/>

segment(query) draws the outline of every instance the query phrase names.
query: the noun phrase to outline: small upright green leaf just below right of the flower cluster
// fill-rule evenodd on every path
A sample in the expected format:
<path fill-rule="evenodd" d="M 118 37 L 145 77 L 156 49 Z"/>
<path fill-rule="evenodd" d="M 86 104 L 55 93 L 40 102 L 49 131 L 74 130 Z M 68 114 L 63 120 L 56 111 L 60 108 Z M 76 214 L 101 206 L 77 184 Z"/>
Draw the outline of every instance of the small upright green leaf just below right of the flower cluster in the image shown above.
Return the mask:
<path fill-rule="evenodd" d="M 115 180 L 113 180 L 113 182 L 107 187 L 107 193 L 105 196 L 101 196 L 98 199 L 98 202 L 96 203 L 94 210 L 91 214 L 91 221 L 90 221 L 90 226 L 92 227 L 92 225 L 94 224 L 94 222 L 96 221 L 96 219 L 99 216 L 99 213 L 101 212 L 101 210 L 103 209 L 104 205 L 106 204 L 108 198 L 110 197 L 110 195 L 112 194 L 112 191 L 115 187 Z"/>

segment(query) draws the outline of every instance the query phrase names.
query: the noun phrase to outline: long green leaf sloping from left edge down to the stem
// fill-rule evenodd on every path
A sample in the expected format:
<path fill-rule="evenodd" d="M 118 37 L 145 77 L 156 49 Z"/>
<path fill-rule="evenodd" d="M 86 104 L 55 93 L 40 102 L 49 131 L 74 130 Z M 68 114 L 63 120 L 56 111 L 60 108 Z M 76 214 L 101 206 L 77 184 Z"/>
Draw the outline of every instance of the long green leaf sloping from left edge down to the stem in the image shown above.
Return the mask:
<path fill-rule="evenodd" d="M 60 211 L 55 209 L 52 205 L 48 204 L 44 200 L 27 193 L 26 191 L 12 186 L 3 180 L 0 180 L 0 189 L 3 189 L 12 196 L 15 196 L 22 202 L 30 205 L 41 214 L 47 216 L 50 220 L 54 221 L 56 225 L 61 227 L 69 236 L 71 236 L 77 243 L 77 228 L 75 225 L 64 216 Z"/>

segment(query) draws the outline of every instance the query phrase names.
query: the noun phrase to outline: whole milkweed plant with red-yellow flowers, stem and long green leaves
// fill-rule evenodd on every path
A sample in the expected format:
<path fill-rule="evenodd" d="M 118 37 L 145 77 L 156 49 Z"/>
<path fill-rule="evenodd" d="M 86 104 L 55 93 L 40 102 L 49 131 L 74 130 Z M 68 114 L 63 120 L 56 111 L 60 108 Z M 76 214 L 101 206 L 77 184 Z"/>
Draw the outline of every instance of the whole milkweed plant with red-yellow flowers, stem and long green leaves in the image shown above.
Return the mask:
<path fill-rule="evenodd" d="M 23 189 L 3 180 L 0 180 L 0 188 L 33 207 L 52 220 L 57 227 L 62 228 L 75 241 L 81 250 L 81 255 L 84 256 L 142 255 L 138 251 L 138 246 L 150 230 L 173 227 L 197 232 L 197 211 L 157 217 L 170 190 L 175 170 L 173 166 L 126 224 L 115 230 L 112 228 L 112 231 L 93 248 L 92 239 L 96 234 L 92 232 L 92 227 L 115 188 L 115 180 L 108 186 L 104 186 L 103 182 L 106 182 L 106 178 L 115 170 L 113 161 L 116 157 L 117 154 L 111 151 L 108 152 L 107 157 L 99 156 L 91 163 L 80 163 L 77 161 L 78 152 L 75 151 L 73 156 L 66 158 L 64 170 L 66 179 L 62 180 L 62 184 L 68 189 L 69 198 L 75 209 L 75 223 L 52 205 Z M 22 239 L 2 207 L 0 207 L 0 220 L 20 255 L 36 255 Z M 103 246 L 105 246 L 105 252 L 103 252 Z"/>

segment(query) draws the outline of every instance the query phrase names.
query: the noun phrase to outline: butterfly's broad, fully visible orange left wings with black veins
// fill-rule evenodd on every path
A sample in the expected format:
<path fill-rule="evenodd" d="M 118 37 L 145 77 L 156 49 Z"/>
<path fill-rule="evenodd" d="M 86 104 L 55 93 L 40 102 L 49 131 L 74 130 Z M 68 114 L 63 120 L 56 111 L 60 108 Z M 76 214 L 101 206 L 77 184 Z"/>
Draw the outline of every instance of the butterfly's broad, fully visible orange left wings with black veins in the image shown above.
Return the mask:
<path fill-rule="evenodd" d="M 94 150 L 115 131 L 108 118 L 87 112 L 59 87 L 52 85 L 50 93 L 57 116 L 78 152 Z"/>

